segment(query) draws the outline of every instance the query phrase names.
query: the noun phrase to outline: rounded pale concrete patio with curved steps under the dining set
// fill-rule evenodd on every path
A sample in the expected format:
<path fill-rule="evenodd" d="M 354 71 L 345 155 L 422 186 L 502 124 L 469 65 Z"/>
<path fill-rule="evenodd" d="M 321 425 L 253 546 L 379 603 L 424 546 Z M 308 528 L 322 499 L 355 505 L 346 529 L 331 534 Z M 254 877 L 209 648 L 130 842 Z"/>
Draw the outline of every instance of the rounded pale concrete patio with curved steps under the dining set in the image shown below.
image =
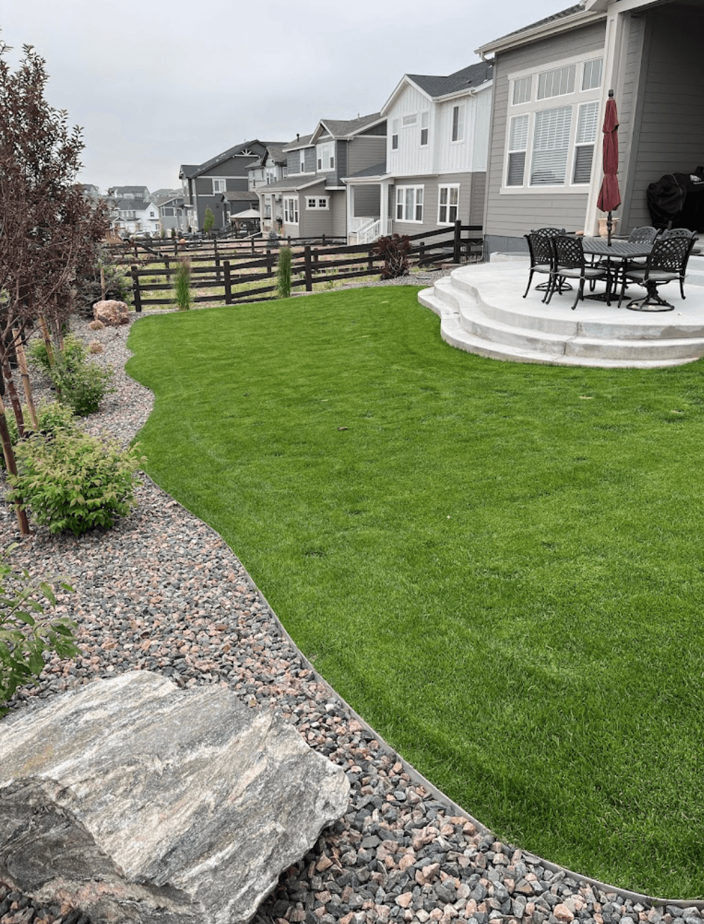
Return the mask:
<path fill-rule="evenodd" d="M 492 260 L 452 270 L 432 288 L 418 294 L 440 318 L 440 334 L 451 346 L 492 359 L 603 368 L 657 368 L 693 362 L 704 356 L 704 256 L 693 256 L 687 268 L 685 300 L 674 283 L 662 288 L 673 311 L 617 308 L 618 298 L 585 300 L 572 310 L 574 290 L 553 296 L 543 305 L 544 282 L 528 281 L 528 260 L 492 254 Z M 603 291 L 597 284 L 596 292 Z M 631 298 L 645 289 L 631 286 Z"/>

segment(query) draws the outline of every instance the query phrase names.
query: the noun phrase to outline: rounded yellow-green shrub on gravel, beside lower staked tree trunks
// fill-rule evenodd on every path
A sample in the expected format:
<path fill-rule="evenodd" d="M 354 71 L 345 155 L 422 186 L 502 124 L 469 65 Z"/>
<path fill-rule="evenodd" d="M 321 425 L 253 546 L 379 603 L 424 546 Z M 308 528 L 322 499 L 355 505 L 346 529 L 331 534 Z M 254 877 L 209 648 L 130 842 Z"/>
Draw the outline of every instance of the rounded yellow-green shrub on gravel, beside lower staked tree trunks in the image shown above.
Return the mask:
<path fill-rule="evenodd" d="M 80 536 L 111 527 L 134 506 L 135 472 L 143 461 L 136 447 L 123 450 L 80 430 L 60 430 L 53 438 L 21 440 L 15 456 L 18 473 L 8 475 L 14 490 L 7 496 L 51 533 L 70 529 Z"/>

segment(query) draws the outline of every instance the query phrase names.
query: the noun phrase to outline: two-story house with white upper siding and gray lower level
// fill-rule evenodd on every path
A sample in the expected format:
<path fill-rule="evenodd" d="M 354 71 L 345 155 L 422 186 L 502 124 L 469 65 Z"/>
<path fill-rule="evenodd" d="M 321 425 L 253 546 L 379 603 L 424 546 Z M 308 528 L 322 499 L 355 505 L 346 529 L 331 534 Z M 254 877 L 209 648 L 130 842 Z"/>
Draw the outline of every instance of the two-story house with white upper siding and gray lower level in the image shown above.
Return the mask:
<path fill-rule="evenodd" d="M 491 88 L 484 61 L 449 77 L 403 76 L 381 110 L 384 157 L 344 176 L 351 241 L 434 231 L 458 218 L 481 225 Z"/>

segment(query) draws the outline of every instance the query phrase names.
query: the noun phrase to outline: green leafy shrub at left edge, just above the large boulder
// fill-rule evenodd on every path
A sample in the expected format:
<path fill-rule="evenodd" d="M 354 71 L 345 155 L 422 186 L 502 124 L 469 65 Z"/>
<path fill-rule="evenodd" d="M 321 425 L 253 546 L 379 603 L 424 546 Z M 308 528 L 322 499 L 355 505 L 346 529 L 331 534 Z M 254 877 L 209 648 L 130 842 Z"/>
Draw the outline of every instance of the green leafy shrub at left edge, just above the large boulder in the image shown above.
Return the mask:
<path fill-rule="evenodd" d="M 56 606 L 54 584 L 73 588 L 58 577 L 31 580 L 24 568 L 10 562 L 16 548 L 11 545 L 0 555 L 0 715 L 8 711 L 2 703 L 18 687 L 42 673 L 44 651 L 56 651 L 62 658 L 79 653 L 73 639 L 76 624 L 46 612 L 47 606 Z"/>

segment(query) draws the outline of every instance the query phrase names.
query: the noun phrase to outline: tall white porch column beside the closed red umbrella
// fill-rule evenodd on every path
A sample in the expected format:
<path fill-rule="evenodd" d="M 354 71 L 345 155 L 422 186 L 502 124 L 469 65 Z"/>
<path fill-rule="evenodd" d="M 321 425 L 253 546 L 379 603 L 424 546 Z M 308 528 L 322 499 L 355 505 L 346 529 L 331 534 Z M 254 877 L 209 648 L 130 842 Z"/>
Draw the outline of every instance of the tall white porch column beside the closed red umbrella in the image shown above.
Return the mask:
<path fill-rule="evenodd" d="M 616 5 L 617 7 L 620 4 Z M 591 184 L 589 186 L 589 196 L 587 199 L 587 213 L 585 215 L 585 234 L 592 237 L 598 234 L 599 230 L 599 210 L 597 201 L 599 199 L 599 189 L 604 177 L 602 167 L 603 152 L 603 134 L 601 128 L 604 124 L 604 113 L 606 112 L 606 102 L 609 99 L 609 91 L 613 91 L 616 106 L 619 106 L 621 91 L 624 89 L 624 73 L 626 52 L 628 45 L 628 31 L 631 17 L 628 12 L 619 12 L 618 9 L 611 7 L 609 17 L 606 20 L 606 38 L 604 42 L 604 66 L 601 80 L 601 98 L 599 100 L 599 123 L 597 126 L 597 139 L 594 144 L 594 163 L 591 172 Z M 624 151 L 619 160 L 625 163 Z M 624 192 L 625 177 L 619 176 L 622 196 Z M 624 230 L 624 229 L 622 229 Z"/>

